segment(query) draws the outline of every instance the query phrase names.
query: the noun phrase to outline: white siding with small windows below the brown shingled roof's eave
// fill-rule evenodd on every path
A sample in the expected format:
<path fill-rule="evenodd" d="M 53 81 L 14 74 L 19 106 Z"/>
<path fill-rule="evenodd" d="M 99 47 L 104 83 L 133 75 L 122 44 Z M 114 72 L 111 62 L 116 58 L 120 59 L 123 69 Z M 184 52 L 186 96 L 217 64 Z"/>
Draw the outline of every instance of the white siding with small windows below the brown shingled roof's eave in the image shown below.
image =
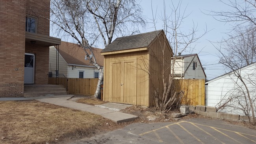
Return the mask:
<path fill-rule="evenodd" d="M 84 66 L 72 66 L 68 67 L 68 78 L 79 78 L 79 71 L 83 72 L 83 78 L 94 78 L 94 72 L 99 72 L 97 68 L 84 67 Z"/>

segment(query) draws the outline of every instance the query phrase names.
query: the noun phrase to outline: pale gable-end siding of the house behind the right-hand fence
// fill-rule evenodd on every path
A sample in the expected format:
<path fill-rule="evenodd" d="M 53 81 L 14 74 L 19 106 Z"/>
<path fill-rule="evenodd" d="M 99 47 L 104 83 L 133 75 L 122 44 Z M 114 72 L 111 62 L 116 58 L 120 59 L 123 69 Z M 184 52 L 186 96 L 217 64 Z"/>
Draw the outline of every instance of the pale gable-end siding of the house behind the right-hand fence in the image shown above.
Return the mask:
<path fill-rule="evenodd" d="M 199 62 L 197 56 L 195 56 L 194 59 L 193 59 L 193 57 L 194 56 L 184 58 L 185 66 L 186 66 L 185 68 L 187 68 L 187 66 L 189 66 L 187 68 L 186 73 L 184 74 L 184 78 L 185 79 L 206 79 L 206 77 L 204 75 L 204 71 L 200 65 L 200 62 Z M 191 64 L 189 65 L 190 62 L 191 62 Z M 195 68 L 195 70 L 193 70 L 193 62 L 197 62 L 197 67 Z"/>

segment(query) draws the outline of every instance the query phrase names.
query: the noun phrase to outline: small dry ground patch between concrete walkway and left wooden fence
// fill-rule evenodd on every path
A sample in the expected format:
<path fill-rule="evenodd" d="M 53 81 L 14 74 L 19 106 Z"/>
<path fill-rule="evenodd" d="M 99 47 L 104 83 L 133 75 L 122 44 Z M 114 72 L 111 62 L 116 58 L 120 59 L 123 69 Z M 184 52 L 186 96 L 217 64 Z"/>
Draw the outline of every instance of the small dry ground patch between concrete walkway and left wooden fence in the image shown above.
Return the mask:
<path fill-rule="evenodd" d="M 107 101 L 99 100 L 91 95 L 75 95 L 70 98 L 70 100 L 87 105 L 101 105 L 103 103 L 108 103 Z"/>

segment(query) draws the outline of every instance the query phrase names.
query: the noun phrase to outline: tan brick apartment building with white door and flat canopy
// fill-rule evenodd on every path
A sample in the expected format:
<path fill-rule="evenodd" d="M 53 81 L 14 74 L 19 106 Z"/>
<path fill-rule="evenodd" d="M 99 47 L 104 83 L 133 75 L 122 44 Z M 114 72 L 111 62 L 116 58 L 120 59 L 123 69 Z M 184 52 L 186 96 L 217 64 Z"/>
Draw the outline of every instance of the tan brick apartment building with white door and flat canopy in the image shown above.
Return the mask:
<path fill-rule="evenodd" d="M 0 0 L 0 97 L 23 97 L 24 84 L 47 84 L 50 0 Z"/>

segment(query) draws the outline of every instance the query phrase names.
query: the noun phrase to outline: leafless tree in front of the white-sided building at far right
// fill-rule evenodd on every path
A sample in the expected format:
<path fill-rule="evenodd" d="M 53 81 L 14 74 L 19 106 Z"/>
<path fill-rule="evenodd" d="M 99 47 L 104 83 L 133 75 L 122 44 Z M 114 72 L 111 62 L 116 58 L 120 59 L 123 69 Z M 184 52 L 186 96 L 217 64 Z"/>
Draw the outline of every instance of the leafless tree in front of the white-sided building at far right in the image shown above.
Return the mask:
<path fill-rule="evenodd" d="M 233 91 L 234 93 L 230 94 L 230 99 L 237 103 L 231 107 L 242 110 L 246 115 L 249 115 L 251 112 L 252 122 L 255 124 L 255 98 L 251 95 L 254 94 L 252 89 L 255 89 L 255 79 L 252 79 L 255 77 L 255 70 L 249 72 L 241 70 L 243 66 L 256 62 L 255 27 L 248 27 L 245 30 L 238 30 L 237 28 L 229 35 L 228 39 L 224 39 L 224 41 L 219 43 L 219 48 L 216 46 L 215 48 L 219 51 L 219 63 L 222 63 L 226 67 L 227 72 L 231 71 L 230 79 L 236 85 L 235 91 Z M 224 105 L 221 107 L 224 107 Z"/>

